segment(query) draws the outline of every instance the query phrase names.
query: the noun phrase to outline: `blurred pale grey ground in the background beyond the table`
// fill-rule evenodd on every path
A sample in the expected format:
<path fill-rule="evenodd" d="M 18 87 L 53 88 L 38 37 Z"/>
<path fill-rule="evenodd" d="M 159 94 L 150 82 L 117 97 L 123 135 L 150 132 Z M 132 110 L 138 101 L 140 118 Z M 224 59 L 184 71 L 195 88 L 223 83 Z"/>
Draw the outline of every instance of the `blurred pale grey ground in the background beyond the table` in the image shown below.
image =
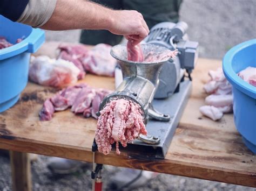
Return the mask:
<path fill-rule="evenodd" d="M 199 42 L 199 56 L 222 59 L 243 41 L 256 38 L 255 0 L 183 0 L 180 20 L 190 40 Z M 46 31 L 46 40 L 78 42 L 80 30 Z"/>

